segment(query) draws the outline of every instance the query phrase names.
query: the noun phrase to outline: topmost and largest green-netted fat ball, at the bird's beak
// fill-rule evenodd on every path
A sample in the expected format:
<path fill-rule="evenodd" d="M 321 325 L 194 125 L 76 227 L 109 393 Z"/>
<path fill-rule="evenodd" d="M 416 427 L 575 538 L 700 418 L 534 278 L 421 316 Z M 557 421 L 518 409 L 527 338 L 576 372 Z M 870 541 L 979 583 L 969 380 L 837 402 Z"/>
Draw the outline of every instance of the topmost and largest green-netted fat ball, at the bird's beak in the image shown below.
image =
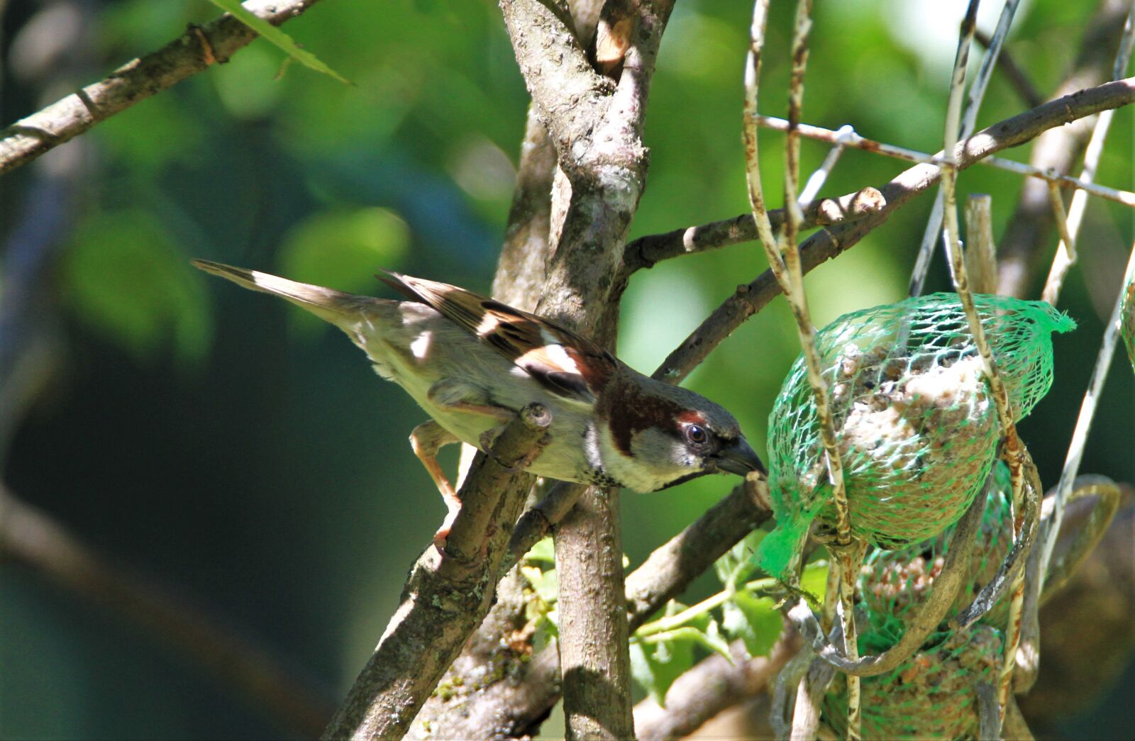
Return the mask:
<path fill-rule="evenodd" d="M 1075 322 L 1046 303 L 975 295 L 1016 419 L 1052 385 L 1053 331 Z M 957 294 L 840 317 L 816 334 L 852 534 L 898 548 L 940 533 L 977 494 L 997 451 L 997 409 Z M 835 511 L 804 357 L 768 418 L 776 528 L 756 565 L 790 581 L 808 527 Z"/>

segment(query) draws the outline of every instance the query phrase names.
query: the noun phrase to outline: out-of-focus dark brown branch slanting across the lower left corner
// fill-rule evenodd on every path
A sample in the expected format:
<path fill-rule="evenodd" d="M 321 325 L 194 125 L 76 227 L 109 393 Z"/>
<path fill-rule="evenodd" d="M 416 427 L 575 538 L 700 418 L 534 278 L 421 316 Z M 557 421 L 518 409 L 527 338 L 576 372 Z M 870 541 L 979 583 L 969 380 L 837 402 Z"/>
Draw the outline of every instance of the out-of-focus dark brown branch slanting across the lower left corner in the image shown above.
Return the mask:
<path fill-rule="evenodd" d="M 283 729 L 317 735 L 335 711 L 319 688 L 186 595 L 131 573 L 0 486 L 0 556 L 151 631 Z"/>

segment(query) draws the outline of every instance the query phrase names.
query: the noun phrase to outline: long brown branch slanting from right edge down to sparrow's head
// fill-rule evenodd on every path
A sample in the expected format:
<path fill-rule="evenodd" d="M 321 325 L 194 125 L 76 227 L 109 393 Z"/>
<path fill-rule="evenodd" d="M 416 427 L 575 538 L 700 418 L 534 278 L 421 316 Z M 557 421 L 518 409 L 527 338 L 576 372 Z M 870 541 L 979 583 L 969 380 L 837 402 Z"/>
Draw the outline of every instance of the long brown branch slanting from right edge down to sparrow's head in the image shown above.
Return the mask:
<path fill-rule="evenodd" d="M 1105 83 L 1050 101 L 1012 118 L 994 124 L 958 143 L 953 155 L 958 169 L 965 169 L 994 152 L 1019 146 L 1042 132 L 1092 116 L 1101 110 L 1120 108 L 1135 102 L 1135 77 Z M 941 153 L 939 153 L 941 154 Z M 916 165 L 900 172 L 880 188 L 886 205 L 856 221 L 823 229 L 801 245 L 801 266 L 810 271 L 857 244 L 872 229 L 882 225 L 910 199 L 938 184 L 936 165 Z M 1048 196 L 1045 195 L 1045 204 Z M 771 271 L 749 284 L 738 286 L 693 332 L 678 346 L 654 372 L 654 378 L 680 382 L 706 355 L 741 322 L 764 309 L 780 293 Z"/>

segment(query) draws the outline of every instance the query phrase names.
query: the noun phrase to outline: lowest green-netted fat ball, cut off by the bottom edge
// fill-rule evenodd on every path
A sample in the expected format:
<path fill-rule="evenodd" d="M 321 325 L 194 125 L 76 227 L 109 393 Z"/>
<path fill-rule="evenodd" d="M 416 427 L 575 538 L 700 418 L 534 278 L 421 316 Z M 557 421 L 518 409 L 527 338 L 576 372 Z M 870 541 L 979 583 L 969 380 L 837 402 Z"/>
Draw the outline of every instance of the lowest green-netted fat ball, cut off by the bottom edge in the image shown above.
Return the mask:
<path fill-rule="evenodd" d="M 864 635 L 860 646 L 872 638 Z M 1002 650 L 997 629 L 976 625 L 948 633 L 890 673 L 863 677 L 861 736 L 978 738 L 975 688 L 997 681 Z M 824 696 L 822 721 L 839 738 L 847 738 L 847 680 L 838 674 Z"/>

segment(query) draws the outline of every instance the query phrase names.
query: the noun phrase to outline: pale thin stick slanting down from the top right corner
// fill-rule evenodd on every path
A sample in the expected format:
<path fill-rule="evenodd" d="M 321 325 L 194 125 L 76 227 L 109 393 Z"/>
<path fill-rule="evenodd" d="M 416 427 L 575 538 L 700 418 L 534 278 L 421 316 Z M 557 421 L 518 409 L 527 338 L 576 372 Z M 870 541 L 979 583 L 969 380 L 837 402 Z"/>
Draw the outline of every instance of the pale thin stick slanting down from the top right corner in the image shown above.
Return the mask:
<path fill-rule="evenodd" d="M 1124 70 L 1127 69 L 1127 65 L 1132 58 L 1133 41 L 1135 41 L 1135 3 L 1132 3 L 1130 12 L 1127 14 L 1127 22 L 1124 25 L 1124 35 L 1119 41 L 1116 64 L 1111 68 L 1112 79 L 1118 79 L 1124 74 Z M 1103 143 L 1108 138 L 1108 129 L 1111 126 L 1113 115 L 1115 111 L 1103 111 L 1095 119 L 1095 126 L 1092 128 L 1092 138 L 1088 141 L 1087 150 L 1084 152 L 1084 168 L 1079 175 L 1081 180 L 1091 183 L 1095 179 L 1095 170 L 1100 165 L 1100 158 L 1103 155 Z M 1044 281 L 1044 290 L 1041 293 L 1041 298 L 1052 305 L 1056 305 L 1057 298 L 1060 296 L 1060 287 L 1063 285 L 1065 276 L 1068 275 L 1068 270 L 1076 262 L 1076 235 L 1084 222 L 1084 209 L 1087 207 L 1087 194 L 1084 191 L 1076 191 L 1071 197 L 1071 208 L 1066 214 L 1063 211 L 1063 201 L 1060 200 L 1060 193 L 1054 188 L 1056 186 L 1050 184 L 1049 199 L 1052 202 L 1052 213 L 1060 234 L 1060 244 L 1057 245 L 1057 253 L 1052 258 L 1052 267 L 1049 269 L 1049 277 Z"/>

